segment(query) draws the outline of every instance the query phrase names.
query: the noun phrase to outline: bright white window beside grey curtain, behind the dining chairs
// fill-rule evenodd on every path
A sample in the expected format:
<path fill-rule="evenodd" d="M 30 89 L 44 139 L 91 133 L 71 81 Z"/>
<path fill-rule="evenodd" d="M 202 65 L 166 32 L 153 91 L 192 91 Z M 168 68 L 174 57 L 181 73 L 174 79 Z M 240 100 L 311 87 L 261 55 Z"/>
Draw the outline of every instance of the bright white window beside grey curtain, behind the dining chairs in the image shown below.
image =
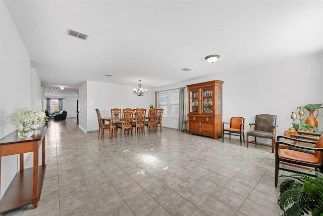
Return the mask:
<path fill-rule="evenodd" d="M 159 92 L 159 108 L 164 109 L 163 116 L 178 118 L 179 116 L 179 90 Z"/>

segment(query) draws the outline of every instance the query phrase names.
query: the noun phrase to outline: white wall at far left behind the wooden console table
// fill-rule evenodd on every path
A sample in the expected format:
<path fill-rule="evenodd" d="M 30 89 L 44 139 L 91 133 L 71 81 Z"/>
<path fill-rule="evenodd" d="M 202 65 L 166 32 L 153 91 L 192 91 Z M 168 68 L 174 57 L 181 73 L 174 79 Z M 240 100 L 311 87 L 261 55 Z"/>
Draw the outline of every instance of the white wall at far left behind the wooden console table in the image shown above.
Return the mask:
<path fill-rule="evenodd" d="M 30 58 L 3 0 L 0 0 L 0 139 L 17 129 L 5 121 L 15 109 L 41 107 L 40 81 L 31 71 Z M 33 97 L 33 99 L 31 99 Z M 1 164 L 1 194 L 19 169 L 18 156 L 6 156 Z"/>

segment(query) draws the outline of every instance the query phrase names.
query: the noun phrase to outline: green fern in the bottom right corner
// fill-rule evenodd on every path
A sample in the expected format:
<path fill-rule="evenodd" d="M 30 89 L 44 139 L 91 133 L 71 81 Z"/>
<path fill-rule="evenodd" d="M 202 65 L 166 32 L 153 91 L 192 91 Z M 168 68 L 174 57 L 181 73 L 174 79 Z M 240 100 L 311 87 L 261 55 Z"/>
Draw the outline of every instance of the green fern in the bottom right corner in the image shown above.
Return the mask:
<path fill-rule="evenodd" d="M 310 170 L 312 171 L 312 170 Z M 323 215 L 323 174 L 315 171 L 316 177 L 306 174 L 292 174 L 279 188 L 279 207 L 284 211 L 282 216 L 308 214 Z"/>

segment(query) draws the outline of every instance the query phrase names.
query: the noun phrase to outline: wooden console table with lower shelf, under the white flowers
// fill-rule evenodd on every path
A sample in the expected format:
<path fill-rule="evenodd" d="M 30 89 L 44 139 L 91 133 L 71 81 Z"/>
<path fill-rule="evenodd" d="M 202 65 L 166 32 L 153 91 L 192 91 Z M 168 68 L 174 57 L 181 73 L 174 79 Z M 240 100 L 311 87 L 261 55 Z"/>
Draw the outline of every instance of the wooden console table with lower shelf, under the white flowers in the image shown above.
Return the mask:
<path fill-rule="evenodd" d="M 20 170 L 0 200 L 0 213 L 32 203 L 37 207 L 45 175 L 45 133 L 47 127 L 34 131 L 32 137 L 19 138 L 17 131 L 0 140 L 0 186 L 1 159 L 19 154 Z M 42 164 L 38 166 L 38 148 L 42 145 Z M 24 153 L 33 152 L 33 167 L 24 169 Z M 1 187 L 0 187 L 1 188 Z"/>

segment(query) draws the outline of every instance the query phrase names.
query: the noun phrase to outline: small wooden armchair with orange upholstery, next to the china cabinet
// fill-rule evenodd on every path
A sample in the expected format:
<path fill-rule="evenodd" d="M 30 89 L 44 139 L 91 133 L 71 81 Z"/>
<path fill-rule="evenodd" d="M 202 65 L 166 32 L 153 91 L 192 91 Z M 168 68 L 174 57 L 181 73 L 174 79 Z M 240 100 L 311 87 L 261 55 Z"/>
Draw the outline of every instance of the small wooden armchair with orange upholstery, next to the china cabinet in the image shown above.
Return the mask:
<path fill-rule="evenodd" d="M 225 124 L 230 124 L 229 127 L 225 128 Z M 227 133 L 226 133 L 227 132 Z M 242 137 L 244 142 L 244 118 L 243 117 L 232 117 L 230 122 L 222 123 L 222 142 L 224 141 L 224 135 L 229 135 L 229 141 L 231 141 L 231 135 L 240 137 L 240 146 L 242 146 Z"/>

